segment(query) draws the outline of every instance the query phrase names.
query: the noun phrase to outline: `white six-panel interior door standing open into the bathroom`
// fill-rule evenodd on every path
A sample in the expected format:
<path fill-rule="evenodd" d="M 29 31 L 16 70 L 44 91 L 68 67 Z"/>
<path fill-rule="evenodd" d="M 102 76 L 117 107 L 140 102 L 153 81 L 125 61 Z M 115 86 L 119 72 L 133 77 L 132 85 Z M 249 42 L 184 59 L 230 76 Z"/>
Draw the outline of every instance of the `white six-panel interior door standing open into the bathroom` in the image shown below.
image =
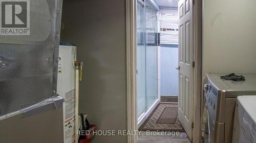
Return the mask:
<path fill-rule="evenodd" d="M 179 1 L 179 109 L 178 118 L 193 140 L 194 24 L 193 0 Z"/>

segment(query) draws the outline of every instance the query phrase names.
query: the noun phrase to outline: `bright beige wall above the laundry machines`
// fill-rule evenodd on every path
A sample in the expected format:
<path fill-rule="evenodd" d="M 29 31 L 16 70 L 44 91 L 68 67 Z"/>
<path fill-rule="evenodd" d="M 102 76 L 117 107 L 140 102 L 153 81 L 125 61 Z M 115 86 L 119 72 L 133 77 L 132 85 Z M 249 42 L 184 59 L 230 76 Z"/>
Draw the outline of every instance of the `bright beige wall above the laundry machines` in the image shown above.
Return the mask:
<path fill-rule="evenodd" d="M 203 3 L 203 76 L 256 73 L 256 1 Z"/>

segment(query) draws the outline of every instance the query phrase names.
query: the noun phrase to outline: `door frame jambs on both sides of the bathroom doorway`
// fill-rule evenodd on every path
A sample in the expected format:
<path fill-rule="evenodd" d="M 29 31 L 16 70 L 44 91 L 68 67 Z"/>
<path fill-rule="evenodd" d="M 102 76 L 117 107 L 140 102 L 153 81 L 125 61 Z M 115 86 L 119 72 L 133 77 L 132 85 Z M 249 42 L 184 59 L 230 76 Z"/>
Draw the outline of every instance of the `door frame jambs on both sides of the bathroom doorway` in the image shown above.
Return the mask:
<path fill-rule="evenodd" d="M 137 117 L 137 1 L 125 0 L 126 10 L 126 93 L 127 130 L 138 130 Z M 201 87 L 202 87 L 202 0 L 194 0 L 194 135 L 193 142 L 201 139 Z M 199 117 L 199 118 L 198 118 Z M 128 143 L 137 143 L 137 135 L 128 135 Z"/>

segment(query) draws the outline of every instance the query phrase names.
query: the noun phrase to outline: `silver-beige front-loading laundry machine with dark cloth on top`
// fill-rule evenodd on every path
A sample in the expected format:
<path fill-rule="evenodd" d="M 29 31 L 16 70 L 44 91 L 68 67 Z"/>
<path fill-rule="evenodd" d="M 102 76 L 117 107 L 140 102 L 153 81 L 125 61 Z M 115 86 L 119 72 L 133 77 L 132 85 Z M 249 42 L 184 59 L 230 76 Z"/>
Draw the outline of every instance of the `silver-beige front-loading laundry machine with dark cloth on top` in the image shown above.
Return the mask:
<path fill-rule="evenodd" d="M 237 97 L 256 95 L 256 74 L 238 74 L 245 81 L 223 80 L 223 75 L 226 73 L 207 74 L 201 139 L 204 143 L 232 142 Z"/>

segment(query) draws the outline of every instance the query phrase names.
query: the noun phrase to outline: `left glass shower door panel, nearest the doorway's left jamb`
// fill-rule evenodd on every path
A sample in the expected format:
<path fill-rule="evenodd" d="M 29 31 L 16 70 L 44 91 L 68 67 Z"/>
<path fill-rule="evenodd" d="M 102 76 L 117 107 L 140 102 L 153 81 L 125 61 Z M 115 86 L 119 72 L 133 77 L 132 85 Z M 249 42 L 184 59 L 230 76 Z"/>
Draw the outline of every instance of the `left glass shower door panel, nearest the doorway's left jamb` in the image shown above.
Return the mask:
<path fill-rule="evenodd" d="M 138 117 L 146 111 L 145 9 L 137 3 L 137 100 Z"/>

